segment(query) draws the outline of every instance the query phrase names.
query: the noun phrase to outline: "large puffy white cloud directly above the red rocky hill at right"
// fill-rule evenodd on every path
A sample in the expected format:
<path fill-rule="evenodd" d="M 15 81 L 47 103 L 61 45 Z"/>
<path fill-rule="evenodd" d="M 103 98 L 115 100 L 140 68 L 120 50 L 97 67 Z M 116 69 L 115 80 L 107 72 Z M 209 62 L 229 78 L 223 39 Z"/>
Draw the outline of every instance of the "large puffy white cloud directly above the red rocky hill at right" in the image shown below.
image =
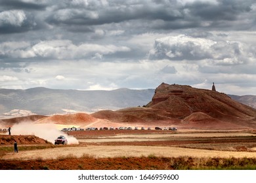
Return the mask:
<path fill-rule="evenodd" d="M 247 63 L 255 58 L 253 48 L 238 41 L 214 41 L 186 35 L 156 39 L 149 52 L 151 59 L 202 60 L 211 59 L 215 64 L 234 65 Z"/>

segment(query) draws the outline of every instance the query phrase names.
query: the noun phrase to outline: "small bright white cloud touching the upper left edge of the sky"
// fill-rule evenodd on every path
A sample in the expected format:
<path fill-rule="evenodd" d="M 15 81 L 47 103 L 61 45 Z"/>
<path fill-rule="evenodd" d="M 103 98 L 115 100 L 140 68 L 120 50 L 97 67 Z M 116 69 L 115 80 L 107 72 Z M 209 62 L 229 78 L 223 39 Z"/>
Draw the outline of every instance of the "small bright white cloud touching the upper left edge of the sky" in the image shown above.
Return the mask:
<path fill-rule="evenodd" d="M 26 20 L 26 14 L 23 10 L 9 10 L 0 12 L 0 26 L 12 25 L 20 27 L 24 20 Z"/>

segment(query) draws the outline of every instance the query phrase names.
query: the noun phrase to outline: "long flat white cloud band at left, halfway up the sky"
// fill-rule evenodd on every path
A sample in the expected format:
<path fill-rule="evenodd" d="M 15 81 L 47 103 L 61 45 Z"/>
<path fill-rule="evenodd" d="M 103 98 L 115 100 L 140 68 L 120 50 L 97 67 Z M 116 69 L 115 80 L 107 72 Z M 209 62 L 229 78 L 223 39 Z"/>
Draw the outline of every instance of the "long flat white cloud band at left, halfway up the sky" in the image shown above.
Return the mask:
<path fill-rule="evenodd" d="M 31 45 L 30 42 L 3 42 L 0 44 L 0 56 L 9 58 L 55 58 L 55 59 L 79 59 L 100 58 L 103 55 L 116 52 L 129 52 L 127 46 L 115 46 L 114 44 L 73 44 L 70 40 L 41 41 Z"/>

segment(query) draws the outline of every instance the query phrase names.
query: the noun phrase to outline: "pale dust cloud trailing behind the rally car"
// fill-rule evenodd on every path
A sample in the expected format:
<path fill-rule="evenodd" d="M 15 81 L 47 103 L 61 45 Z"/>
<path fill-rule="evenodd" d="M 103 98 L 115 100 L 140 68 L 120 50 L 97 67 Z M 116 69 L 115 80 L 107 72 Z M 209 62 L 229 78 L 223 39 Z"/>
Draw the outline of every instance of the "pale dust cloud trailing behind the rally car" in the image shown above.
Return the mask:
<path fill-rule="evenodd" d="M 68 140 L 68 144 L 79 143 L 75 137 L 56 129 L 54 124 L 32 124 L 32 122 L 21 122 L 19 124 L 14 124 L 11 128 L 12 135 L 35 135 L 53 144 L 58 136 L 64 135 Z"/>

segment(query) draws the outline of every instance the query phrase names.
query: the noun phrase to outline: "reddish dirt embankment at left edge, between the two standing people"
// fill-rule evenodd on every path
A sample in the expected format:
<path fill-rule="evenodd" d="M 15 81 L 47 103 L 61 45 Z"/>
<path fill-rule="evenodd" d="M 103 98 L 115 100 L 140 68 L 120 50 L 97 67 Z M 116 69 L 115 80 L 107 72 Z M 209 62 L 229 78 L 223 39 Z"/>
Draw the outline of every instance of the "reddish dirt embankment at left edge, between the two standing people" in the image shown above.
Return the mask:
<path fill-rule="evenodd" d="M 49 144 L 49 142 L 35 135 L 0 135 L 0 145 L 18 144 Z"/>

